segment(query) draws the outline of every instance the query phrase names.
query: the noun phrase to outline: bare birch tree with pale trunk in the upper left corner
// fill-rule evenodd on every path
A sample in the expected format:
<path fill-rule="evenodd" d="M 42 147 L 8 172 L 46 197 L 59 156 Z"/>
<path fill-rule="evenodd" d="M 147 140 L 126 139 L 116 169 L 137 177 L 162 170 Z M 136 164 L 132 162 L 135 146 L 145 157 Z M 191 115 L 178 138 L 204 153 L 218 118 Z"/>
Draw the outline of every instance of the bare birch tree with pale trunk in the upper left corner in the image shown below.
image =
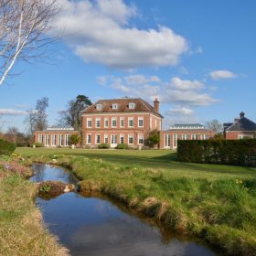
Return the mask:
<path fill-rule="evenodd" d="M 17 60 L 45 56 L 58 0 L 0 0 L 0 86 Z"/>

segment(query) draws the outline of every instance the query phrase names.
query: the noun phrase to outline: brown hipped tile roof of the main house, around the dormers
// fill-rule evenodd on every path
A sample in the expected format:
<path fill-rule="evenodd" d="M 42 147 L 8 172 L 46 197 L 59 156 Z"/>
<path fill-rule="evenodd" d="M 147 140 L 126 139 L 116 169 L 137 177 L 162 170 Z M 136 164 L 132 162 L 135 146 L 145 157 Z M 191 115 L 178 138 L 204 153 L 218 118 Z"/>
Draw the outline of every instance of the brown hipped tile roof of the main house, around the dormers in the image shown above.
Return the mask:
<path fill-rule="evenodd" d="M 117 103 L 117 109 L 112 109 L 112 104 Z M 134 109 L 129 109 L 129 103 L 135 103 Z M 97 104 L 101 104 L 101 110 L 97 110 Z M 119 112 L 153 112 L 155 115 L 164 118 L 154 107 L 141 98 L 121 98 L 112 100 L 100 100 L 93 103 L 81 113 L 119 113 Z"/>

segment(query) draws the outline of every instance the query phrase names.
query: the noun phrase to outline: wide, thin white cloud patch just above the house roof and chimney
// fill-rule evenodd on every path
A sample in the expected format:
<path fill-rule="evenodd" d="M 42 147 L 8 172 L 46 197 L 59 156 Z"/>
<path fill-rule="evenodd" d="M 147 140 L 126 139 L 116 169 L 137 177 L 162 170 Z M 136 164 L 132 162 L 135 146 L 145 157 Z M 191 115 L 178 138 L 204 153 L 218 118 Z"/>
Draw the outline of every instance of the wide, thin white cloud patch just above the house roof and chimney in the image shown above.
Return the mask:
<path fill-rule="evenodd" d="M 148 101 L 154 101 L 157 97 L 162 103 L 183 106 L 204 106 L 219 101 L 205 92 L 205 84 L 198 80 L 173 78 L 166 83 L 156 76 L 133 75 L 111 78 L 107 83 L 113 90 L 120 91 L 124 95 L 142 97 Z"/>

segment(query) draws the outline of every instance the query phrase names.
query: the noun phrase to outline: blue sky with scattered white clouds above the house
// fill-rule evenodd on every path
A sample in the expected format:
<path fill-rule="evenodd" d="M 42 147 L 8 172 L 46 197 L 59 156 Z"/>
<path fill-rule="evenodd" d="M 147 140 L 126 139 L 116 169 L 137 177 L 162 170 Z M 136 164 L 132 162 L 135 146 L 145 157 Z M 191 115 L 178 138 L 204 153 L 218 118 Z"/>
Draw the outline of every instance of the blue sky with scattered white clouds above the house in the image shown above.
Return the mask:
<path fill-rule="evenodd" d="M 54 64 L 17 63 L 0 87 L 0 128 L 25 130 L 37 99 L 48 123 L 78 94 L 91 101 L 158 97 L 173 123 L 256 121 L 256 2 L 250 0 L 59 0 Z M 52 62 L 52 60 L 51 60 Z"/>

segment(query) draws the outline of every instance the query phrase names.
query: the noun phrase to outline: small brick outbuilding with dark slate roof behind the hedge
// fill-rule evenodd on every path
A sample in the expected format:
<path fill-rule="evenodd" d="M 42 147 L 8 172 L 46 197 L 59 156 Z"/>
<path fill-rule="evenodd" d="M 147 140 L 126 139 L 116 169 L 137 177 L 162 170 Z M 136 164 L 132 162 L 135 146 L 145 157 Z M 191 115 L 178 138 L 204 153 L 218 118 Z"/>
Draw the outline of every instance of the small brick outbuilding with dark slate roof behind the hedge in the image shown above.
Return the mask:
<path fill-rule="evenodd" d="M 227 140 L 240 140 L 256 136 L 256 123 L 245 117 L 240 112 L 240 118 L 235 118 L 234 123 L 223 123 L 224 137 Z"/>

